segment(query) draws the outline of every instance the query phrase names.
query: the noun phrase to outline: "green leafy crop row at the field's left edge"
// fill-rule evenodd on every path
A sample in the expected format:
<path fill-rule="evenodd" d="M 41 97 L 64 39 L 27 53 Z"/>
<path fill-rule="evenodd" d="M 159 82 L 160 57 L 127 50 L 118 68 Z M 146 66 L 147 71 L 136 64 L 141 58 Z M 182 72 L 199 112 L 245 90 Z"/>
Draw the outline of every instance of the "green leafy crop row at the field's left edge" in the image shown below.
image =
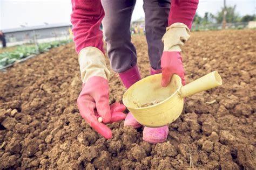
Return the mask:
<path fill-rule="evenodd" d="M 60 45 L 68 44 L 71 40 L 61 40 L 46 42 L 36 45 L 23 45 L 17 47 L 14 51 L 0 53 L 0 69 L 4 66 L 10 65 L 18 60 L 24 59 L 32 54 L 41 54 L 45 51 L 49 51 L 51 48 L 58 47 Z"/>

